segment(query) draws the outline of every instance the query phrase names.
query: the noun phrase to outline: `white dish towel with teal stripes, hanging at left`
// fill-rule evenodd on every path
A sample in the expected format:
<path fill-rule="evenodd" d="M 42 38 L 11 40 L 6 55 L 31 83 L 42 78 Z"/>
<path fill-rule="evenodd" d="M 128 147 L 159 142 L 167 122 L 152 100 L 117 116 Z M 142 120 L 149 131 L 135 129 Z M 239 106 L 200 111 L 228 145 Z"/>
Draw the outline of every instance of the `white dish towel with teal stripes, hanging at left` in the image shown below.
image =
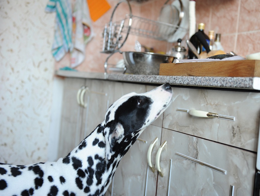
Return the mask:
<path fill-rule="evenodd" d="M 72 9 L 70 0 L 49 0 L 46 12 L 56 11 L 56 24 L 52 54 L 60 61 L 68 51 L 73 50 L 72 43 Z"/>

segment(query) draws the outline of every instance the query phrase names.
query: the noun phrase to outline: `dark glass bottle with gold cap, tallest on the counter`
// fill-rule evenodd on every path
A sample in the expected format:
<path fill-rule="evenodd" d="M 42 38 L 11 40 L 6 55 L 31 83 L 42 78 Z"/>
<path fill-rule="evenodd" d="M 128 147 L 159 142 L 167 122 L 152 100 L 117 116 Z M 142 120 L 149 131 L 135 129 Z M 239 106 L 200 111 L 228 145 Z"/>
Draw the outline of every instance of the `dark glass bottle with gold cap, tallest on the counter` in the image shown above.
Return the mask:
<path fill-rule="evenodd" d="M 195 33 L 190 38 L 190 42 L 194 45 L 195 48 L 197 48 L 198 54 L 200 54 L 203 51 L 206 51 L 205 47 L 202 45 L 201 41 L 198 39 L 198 33 L 205 38 L 205 40 L 207 42 L 207 45 L 209 46 L 209 36 L 207 36 L 204 33 L 204 29 L 205 29 L 204 23 L 199 23 L 198 24 L 198 32 Z M 192 51 L 189 50 L 189 52 L 188 52 L 188 59 L 193 59 L 193 58 L 196 58 L 196 56 L 193 54 Z"/>

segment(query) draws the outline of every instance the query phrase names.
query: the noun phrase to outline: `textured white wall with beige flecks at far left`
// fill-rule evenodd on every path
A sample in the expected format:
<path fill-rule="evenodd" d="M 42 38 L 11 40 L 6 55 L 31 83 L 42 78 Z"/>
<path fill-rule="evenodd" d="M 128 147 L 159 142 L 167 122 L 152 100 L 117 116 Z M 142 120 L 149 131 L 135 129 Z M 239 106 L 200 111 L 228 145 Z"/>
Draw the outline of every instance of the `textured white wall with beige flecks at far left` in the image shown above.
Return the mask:
<path fill-rule="evenodd" d="M 54 13 L 47 1 L 0 1 L 0 162 L 47 160 Z"/>

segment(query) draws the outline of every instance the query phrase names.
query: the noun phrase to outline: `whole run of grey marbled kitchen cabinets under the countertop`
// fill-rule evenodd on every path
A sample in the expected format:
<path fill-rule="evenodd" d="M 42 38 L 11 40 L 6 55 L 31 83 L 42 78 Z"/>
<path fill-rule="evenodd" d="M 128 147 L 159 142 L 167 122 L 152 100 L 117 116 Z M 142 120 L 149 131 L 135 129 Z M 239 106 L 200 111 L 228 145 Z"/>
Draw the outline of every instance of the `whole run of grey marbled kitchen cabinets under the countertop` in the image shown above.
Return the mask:
<path fill-rule="evenodd" d="M 83 96 L 86 108 L 77 104 L 81 86 L 88 87 Z M 143 93 L 153 88 L 145 84 L 66 78 L 59 155 L 66 156 L 90 134 L 103 121 L 112 102 L 129 92 Z M 232 190 L 234 195 L 252 195 L 260 94 L 183 87 L 172 90 L 172 104 L 140 135 L 147 143 L 137 140 L 122 158 L 106 196 L 229 195 Z M 177 108 L 218 113 L 235 117 L 235 121 L 195 117 Z M 147 151 L 156 137 L 153 164 L 159 146 L 167 141 L 159 161 L 163 177 L 157 170 L 153 173 L 147 164 Z"/>

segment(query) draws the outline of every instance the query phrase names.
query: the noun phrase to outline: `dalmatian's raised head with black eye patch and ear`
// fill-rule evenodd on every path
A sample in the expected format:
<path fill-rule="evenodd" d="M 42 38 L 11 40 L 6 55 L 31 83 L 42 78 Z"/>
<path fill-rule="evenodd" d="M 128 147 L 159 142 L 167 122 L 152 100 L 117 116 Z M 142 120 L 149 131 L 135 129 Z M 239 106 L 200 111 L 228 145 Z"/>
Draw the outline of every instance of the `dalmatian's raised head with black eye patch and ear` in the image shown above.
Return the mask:
<path fill-rule="evenodd" d="M 114 102 L 106 112 L 105 156 L 109 160 L 115 143 L 130 135 L 132 143 L 170 105 L 172 89 L 168 83 L 149 92 L 129 93 Z M 138 134 L 139 133 L 139 134 Z"/>

